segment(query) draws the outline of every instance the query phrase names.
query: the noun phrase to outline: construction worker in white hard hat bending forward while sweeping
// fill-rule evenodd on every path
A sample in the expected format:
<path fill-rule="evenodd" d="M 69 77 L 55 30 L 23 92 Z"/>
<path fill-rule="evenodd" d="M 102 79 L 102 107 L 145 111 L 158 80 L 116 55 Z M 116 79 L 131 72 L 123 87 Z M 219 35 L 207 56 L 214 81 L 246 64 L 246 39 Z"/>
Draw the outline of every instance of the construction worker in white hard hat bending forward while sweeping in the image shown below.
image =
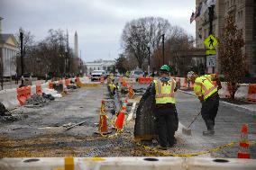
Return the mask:
<path fill-rule="evenodd" d="M 219 107 L 218 89 L 222 88 L 220 80 L 215 75 L 198 76 L 193 71 L 187 73 L 187 79 L 194 84 L 194 92 L 202 103 L 201 115 L 207 128 L 203 135 L 212 136 L 215 134 L 215 117 Z"/>

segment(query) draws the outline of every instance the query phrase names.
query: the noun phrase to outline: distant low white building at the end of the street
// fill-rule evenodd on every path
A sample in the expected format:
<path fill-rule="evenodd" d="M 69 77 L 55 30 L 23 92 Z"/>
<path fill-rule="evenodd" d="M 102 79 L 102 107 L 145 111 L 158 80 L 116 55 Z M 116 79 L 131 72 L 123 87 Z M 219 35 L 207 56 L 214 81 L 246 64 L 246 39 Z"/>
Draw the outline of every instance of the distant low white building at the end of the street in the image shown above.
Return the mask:
<path fill-rule="evenodd" d="M 93 62 L 86 62 L 87 74 L 90 74 L 94 70 L 106 70 L 111 71 L 114 67 L 114 60 L 103 60 L 99 59 Z"/>

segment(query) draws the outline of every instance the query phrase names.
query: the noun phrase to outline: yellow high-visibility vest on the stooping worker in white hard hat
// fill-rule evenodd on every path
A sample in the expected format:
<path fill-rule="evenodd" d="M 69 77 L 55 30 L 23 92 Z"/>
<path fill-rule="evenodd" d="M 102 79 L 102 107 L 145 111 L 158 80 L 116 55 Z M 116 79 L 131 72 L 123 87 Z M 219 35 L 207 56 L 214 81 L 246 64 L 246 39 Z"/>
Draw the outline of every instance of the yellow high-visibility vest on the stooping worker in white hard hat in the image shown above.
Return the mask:
<path fill-rule="evenodd" d="M 217 92 L 217 86 L 213 84 L 211 79 L 211 75 L 205 75 L 199 76 L 195 80 L 194 92 L 197 96 L 203 95 L 204 100 Z"/>

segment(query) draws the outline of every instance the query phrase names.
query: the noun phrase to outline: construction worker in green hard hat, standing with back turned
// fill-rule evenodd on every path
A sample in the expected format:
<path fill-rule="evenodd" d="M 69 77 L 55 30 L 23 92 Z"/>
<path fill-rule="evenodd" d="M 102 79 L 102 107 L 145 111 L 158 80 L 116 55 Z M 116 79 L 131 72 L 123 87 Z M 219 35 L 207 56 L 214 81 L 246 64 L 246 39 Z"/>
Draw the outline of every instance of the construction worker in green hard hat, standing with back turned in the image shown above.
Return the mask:
<path fill-rule="evenodd" d="M 154 80 L 142 95 L 142 100 L 148 96 L 155 99 L 154 114 L 159 136 L 160 149 L 168 149 L 177 143 L 174 134 L 178 130 L 178 115 L 174 92 L 177 91 L 176 82 L 169 76 L 169 66 L 160 67 L 160 78 Z"/>

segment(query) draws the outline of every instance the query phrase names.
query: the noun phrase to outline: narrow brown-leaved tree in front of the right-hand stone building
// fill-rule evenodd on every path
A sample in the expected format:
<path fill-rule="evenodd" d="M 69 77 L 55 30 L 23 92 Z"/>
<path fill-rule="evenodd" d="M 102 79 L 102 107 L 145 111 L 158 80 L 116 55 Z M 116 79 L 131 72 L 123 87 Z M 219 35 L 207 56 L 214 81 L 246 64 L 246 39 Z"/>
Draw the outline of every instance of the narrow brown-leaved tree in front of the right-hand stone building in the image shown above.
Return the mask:
<path fill-rule="evenodd" d="M 242 76 L 245 76 L 247 64 L 245 55 L 242 53 L 244 46 L 242 30 L 237 29 L 232 15 L 228 15 L 225 19 L 224 33 L 219 41 L 221 72 L 227 81 L 231 98 L 234 99 L 234 94 L 239 87 L 238 83 L 241 82 Z"/>

